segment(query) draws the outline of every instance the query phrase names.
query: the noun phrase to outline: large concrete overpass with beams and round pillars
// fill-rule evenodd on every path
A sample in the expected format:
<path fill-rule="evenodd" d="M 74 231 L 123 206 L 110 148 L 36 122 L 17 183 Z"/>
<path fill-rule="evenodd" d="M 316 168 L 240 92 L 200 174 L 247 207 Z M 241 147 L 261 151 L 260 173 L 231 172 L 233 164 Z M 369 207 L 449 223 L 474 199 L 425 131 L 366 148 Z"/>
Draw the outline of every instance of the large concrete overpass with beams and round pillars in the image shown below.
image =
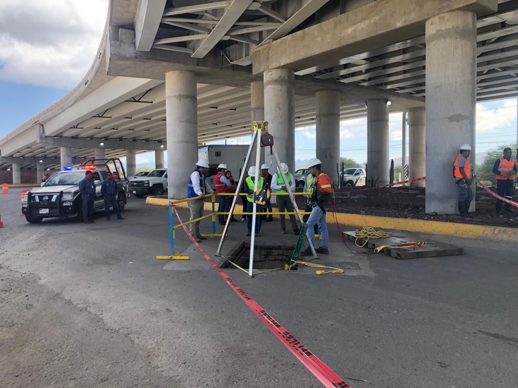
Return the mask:
<path fill-rule="evenodd" d="M 409 112 L 410 175 L 426 171 L 427 212 L 455 213 L 452 163 L 474 146 L 476 101 L 518 95 L 517 21 L 518 0 L 111 0 L 85 78 L 0 152 L 50 166 L 126 154 L 131 172 L 136 152 L 160 163 L 168 149 L 179 198 L 197 145 L 253 120 L 292 169 L 294 128 L 315 124 L 334 171 L 340 120 L 367 116 L 368 180 L 385 183 L 389 112 Z"/>

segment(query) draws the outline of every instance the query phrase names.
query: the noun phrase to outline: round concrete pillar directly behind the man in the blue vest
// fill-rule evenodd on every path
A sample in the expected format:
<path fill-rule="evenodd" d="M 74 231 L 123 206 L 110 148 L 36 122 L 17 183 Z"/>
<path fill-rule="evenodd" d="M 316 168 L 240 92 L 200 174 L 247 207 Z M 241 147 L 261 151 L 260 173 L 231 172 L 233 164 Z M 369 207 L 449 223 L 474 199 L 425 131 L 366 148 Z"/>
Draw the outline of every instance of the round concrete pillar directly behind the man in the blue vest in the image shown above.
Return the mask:
<path fill-rule="evenodd" d="M 165 74 L 167 170 L 169 197 L 185 198 L 189 175 L 198 159 L 196 74 Z"/>

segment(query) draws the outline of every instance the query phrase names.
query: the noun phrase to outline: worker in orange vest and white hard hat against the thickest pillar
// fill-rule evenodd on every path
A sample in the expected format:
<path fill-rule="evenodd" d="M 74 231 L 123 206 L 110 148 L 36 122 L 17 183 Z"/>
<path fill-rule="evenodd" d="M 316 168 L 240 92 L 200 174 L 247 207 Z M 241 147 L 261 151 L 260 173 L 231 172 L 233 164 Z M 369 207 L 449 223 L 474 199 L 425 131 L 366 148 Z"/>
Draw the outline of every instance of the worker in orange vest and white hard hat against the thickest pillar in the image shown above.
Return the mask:
<path fill-rule="evenodd" d="M 469 206 L 473 200 L 473 191 L 470 186 L 474 175 L 468 160 L 470 154 L 471 146 L 469 144 L 461 145 L 460 154 L 453 163 L 453 176 L 455 184 L 458 186 L 458 212 L 462 217 L 468 217 Z"/>

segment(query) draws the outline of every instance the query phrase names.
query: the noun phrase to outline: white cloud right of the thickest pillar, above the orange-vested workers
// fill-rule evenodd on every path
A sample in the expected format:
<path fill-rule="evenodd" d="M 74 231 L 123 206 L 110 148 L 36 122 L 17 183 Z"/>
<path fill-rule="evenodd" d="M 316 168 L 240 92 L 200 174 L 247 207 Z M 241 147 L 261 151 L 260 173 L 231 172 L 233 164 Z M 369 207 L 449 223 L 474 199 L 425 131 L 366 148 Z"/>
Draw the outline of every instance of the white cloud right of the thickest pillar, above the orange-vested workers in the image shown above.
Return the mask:
<path fill-rule="evenodd" d="M 503 100 L 500 107 L 490 109 L 477 103 L 477 133 L 491 133 L 510 127 L 516 118 L 516 100 Z"/>

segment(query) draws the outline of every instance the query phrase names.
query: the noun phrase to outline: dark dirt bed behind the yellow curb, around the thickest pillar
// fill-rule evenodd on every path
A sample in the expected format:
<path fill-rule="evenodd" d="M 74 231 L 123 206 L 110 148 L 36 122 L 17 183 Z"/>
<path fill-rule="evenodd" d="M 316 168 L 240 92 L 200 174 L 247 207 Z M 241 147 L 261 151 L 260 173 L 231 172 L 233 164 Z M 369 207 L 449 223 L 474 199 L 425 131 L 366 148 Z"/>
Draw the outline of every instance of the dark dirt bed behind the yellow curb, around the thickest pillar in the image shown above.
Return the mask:
<path fill-rule="evenodd" d="M 298 196 L 297 204 L 299 208 L 304 208 L 304 199 Z M 470 214 L 469 218 L 458 215 L 426 214 L 425 189 L 419 187 L 393 187 L 353 193 L 339 190 L 336 192 L 336 207 L 339 213 L 518 228 L 518 210 L 515 209 L 514 215 L 506 213 L 496 215 L 495 199 L 482 188 L 477 188 L 477 210 Z"/>

